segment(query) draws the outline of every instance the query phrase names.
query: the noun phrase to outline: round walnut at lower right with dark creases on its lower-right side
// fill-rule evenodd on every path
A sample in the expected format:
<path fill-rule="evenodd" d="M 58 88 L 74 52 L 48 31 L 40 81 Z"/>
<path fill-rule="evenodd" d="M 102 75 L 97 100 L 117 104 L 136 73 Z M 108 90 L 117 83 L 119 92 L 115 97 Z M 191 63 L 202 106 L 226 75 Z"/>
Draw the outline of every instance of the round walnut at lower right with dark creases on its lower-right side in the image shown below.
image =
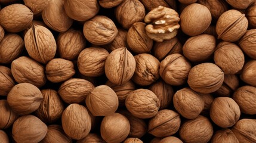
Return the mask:
<path fill-rule="evenodd" d="M 218 97 L 212 102 L 210 116 L 216 125 L 221 128 L 229 128 L 238 122 L 240 109 L 232 98 Z"/>

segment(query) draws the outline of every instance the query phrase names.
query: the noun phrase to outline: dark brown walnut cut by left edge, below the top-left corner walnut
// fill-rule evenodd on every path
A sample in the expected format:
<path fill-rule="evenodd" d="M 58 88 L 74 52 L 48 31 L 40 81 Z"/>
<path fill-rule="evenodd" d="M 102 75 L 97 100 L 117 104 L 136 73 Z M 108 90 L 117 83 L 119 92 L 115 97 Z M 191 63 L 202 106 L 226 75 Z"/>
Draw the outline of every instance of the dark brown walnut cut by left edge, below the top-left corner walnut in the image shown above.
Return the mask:
<path fill-rule="evenodd" d="M 15 60 L 24 49 L 23 39 L 15 34 L 8 33 L 0 42 L 0 63 L 8 64 Z"/>

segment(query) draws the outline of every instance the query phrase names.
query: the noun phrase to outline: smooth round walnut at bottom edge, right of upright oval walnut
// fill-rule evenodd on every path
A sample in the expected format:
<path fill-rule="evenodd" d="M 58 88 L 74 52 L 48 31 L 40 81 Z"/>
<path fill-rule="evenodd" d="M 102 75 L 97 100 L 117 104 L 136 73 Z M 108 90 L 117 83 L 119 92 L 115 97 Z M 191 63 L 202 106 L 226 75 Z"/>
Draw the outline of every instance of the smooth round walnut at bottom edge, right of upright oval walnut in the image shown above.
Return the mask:
<path fill-rule="evenodd" d="M 124 141 L 129 135 L 129 120 L 122 114 L 105 116 L 100 125 L 100 135 L 108 143 Z"/>

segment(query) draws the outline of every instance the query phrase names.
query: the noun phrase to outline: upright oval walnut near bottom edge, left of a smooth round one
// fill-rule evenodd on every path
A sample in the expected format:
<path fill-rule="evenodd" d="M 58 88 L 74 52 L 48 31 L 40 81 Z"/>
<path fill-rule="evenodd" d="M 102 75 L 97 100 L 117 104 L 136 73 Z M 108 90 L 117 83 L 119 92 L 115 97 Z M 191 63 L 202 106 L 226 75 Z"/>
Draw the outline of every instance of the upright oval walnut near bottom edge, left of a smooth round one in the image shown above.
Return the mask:
<path fill-rule="evenodd" d="M 82 139 L 91 130 L 91 117 L 83 105 L 70 104 L 63 111 L 61 123 L 64 132 L 72 139 Z"/>

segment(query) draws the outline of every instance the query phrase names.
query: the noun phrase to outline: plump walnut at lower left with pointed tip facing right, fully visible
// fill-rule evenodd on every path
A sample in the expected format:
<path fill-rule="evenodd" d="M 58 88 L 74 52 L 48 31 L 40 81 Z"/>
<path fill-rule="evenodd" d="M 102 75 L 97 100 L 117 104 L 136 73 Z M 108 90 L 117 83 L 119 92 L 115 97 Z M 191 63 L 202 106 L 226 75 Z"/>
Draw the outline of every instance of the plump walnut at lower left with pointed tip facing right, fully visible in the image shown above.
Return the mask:
<path fill-rule="evenodd" d="M 36 111 L 42 100 L 41 91 L 30 83 L 19 83 L 7 95 L 7 102 L 11 109 L 19 115 L 30 114 Z"/>

